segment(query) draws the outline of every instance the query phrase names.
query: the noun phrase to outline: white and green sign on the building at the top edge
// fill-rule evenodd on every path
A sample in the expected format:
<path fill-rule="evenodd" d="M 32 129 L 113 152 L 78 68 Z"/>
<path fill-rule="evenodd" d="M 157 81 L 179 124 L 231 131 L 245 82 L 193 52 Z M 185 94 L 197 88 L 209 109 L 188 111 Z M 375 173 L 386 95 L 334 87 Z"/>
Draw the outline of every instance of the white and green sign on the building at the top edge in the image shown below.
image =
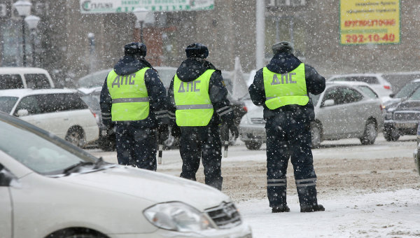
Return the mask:
<path fill-rule="evenodd" d="M 134 8 L 153 12 L 211 10 L 214 0 L 80 0 L 80 13 L 131 13 Z"/>

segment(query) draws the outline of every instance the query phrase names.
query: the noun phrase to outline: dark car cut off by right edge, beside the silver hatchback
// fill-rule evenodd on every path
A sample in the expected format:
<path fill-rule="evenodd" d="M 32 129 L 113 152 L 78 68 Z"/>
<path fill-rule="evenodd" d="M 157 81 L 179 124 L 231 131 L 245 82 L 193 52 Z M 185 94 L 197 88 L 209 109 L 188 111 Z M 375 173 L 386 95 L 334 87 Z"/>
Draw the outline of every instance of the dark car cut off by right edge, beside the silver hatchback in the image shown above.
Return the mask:
<path fill-rule="evenodd" d="M 403 135 L 415 135 L 420 120 L 420 87 L 405 101 L 388 109 L 384 121 L 384 137 L 387 141 L 398 141 Z"/>

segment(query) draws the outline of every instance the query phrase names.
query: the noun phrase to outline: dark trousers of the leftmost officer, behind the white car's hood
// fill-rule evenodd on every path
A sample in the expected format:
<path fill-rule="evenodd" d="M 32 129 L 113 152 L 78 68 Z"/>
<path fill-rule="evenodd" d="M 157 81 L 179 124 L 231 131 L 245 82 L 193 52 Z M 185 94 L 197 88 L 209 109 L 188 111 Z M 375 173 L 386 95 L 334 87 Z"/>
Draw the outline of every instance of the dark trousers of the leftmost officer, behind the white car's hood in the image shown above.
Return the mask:
<path fill-rule="evenodd" d="M 116 125 L 118 164 L 156 171 L 157 141 L 155 131 L 130 123 Z"/>

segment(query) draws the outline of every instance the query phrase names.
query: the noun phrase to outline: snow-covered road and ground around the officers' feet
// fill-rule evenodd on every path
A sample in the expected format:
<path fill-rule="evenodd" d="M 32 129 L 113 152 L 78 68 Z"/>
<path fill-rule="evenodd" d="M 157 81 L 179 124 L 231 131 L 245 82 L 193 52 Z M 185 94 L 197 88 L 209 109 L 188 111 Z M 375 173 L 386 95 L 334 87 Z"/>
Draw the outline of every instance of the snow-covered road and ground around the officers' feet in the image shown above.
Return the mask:
<path fill-rule="evenodd" d="M 254 237 L 420 237 L 420 176 L 414 170 L 415 137 L 373 146 L 356 139 L 330 141 L 314 150 L 318 202 L 325 211 L 300 213 L 292 166 L 289 213 L 272 214 L 265 190 L 265 148 L 238 143 L 223 158 L 223 193 L 237 203 Z M 116 153 L 91 150 L 116 162 Z M 178 150 L 164 151 L 158 172 L 179 176 Z M 203 182 L 202 167 L 197 181 Z"/>

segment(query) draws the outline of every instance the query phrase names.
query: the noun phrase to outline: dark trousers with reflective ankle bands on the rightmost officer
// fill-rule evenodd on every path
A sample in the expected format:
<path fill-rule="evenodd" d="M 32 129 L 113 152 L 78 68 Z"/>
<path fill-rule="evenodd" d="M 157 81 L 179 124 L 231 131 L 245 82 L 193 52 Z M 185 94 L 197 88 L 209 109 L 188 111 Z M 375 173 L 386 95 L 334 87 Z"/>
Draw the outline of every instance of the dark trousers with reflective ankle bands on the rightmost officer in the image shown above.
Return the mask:
<path fill-rule="evenodd" d="M 286 111 L 267 119 L 267 196 L 269 207 L 286 202 L 288 160 L 293 165 L 300 207 L 317 204 L 310 121 Z"/>

